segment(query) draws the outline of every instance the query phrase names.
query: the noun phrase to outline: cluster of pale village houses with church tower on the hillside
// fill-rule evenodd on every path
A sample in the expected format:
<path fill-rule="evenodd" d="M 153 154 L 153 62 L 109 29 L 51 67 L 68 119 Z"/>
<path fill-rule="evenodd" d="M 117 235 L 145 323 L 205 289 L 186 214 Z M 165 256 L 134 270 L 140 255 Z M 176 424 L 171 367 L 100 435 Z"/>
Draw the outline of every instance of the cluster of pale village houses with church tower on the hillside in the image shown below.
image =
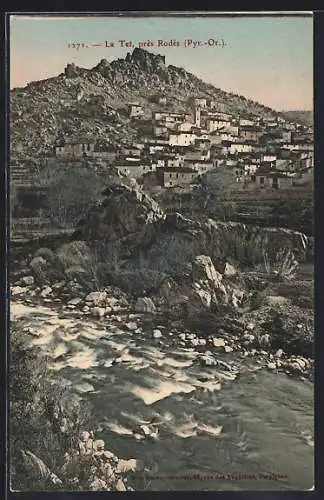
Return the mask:
<path fill-rule="evenodd" d="M 102 147 L 95 134 L 66 136 L 62 131 L 46 163 L 87 161 L 102 173 L 113 166 L 128 177 L 145 177 L 165 188 L 194 185 L 202 174 L 219 167 L 226 167 L 240 187 L 252 190 L 312 182 L 312 127 L 279 114 L 270 119 L 224 113 L 204 96 L 189 96 L 191 112 L 184 113 L 170 109 L 163 95 L 156 96 L 156 102 L 160 111 L 152 111 L 145 134 L 135 140 L 125 137 L 119 145 Z M 141 120 L 143 106 L 127 103 L 125 115 L 130 122 Z M 11 158 L 12 183 L 19 186 L 27 178 L 24 162 Z"/>

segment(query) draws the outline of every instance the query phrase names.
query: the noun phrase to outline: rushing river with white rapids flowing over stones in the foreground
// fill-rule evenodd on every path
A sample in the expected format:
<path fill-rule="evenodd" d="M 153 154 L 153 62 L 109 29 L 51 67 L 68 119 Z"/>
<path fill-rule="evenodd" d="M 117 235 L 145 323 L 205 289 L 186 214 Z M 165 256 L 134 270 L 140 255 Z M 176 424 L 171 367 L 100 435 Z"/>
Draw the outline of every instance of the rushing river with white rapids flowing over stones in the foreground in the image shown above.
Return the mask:
<path fill-rule="evenodd" d="M 106 448 L 141 458 L 153 471 L 146 489 L 313 486 L 311 382 L 268 372 L 235 352 L 217 355 L 224 369 L 202 367 L 198 353 L 163 328 L 154 339 L 152 332 L 19 302 L 11 303 L 11 316 L 32 325 L 31 343 L 49 355 L 54 374 L 91 403 Z M 152 417 L 156 438 L 136 438 L 135 426 Z"/>

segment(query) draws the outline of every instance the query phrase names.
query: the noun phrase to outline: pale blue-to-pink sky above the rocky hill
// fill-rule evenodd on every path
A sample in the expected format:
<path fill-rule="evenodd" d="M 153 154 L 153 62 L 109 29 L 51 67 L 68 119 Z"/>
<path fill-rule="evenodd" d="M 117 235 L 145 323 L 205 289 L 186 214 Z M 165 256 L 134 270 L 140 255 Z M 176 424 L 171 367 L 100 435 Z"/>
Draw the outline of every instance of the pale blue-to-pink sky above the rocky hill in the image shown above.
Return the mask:
<path fill-rule="evenodd" d="M 132 46 L 122 46 L 120 40 Z M 157 46 L 158 40 L 178 41 L 179 46 Z M 185 40 L 200 41 L 201 46 L 194 47 L 193 42 L 185 46 Z M 223 40 L 225 45 L 212 45 L 213 40 Z M 114 46 L 106 47 L 106 41 Z M 165 55 L 166 64 L 183 67 L 218 88 L 278 111 L 313 109 L 313 18 L 309 13 L 303 17 L 13 15 L 10 88 L 56 76 L 70 62 L 91 68 L 101 59 L 124 58 L 148 41 L 153 46 L 143 48 Z M 73 47 L 78 43 L 85 47 Z"/>

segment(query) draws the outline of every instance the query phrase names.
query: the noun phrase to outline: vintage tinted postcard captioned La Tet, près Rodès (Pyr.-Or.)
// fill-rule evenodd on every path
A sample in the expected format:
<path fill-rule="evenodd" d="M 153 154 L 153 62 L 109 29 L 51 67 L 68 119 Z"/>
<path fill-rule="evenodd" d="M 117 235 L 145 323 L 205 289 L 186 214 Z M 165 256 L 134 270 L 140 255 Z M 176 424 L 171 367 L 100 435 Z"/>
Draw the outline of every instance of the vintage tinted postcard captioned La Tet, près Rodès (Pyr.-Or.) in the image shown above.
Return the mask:
<path fill-rule="evenodd" d="M 10 489 L 312 489 L 312 13 L 9 21 Z"/>

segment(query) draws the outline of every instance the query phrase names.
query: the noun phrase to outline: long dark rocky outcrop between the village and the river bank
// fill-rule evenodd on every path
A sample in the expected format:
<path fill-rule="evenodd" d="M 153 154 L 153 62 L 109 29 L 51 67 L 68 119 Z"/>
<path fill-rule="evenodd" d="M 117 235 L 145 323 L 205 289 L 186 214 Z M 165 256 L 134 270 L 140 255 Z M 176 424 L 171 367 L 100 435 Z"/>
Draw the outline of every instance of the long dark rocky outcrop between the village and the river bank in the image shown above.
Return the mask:
<path fill-rule="evenodd" d="M 212 219 L 199 222 L 178 213 L 164 216 L 158 204 L 137 186 L 115 185 L 104 194 L 106 199 L 89 211 L 75 238 L 124 240 L 134 261 L 141 258 L 143 264 L 145 253 L 145 267 L 167 275 L 187 272 L 188 262 L 197 255 L 210 256 L 220 271 L 232 259 L 242 267 L 261 265 L 267 272 L 279 273 L 285 266 L 292 269 L 294 259 L 307 256 L 309 238 L 297 231 Z M 134 249 L 137 252 L 132 253 Z M 235 275 L 228 264 L 226 272 Z"/>

